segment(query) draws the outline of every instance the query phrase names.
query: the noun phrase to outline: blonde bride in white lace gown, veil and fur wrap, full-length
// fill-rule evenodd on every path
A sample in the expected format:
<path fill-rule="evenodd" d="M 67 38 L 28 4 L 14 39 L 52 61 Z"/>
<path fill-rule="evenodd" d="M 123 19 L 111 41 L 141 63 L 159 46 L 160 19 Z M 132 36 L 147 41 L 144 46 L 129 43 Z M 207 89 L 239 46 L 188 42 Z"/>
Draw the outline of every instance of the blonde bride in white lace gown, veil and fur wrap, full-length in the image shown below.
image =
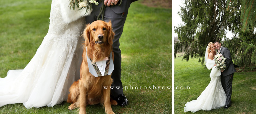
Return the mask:
<path fill-rule="evenodd" d="M 191 111 L 194 113 L 198 110 L 218 109 L 225 105 L 226 94 L 221 85 L 221 72 L 215 69 L 214 55 L 216 55 L 215 45 L 210 42 L 206 48 L 205 65 L 209 70 L 212 68 L 210 73 L 211 81 L 196 100 L 187 102 L 184 107 L 185 112 Z"/>

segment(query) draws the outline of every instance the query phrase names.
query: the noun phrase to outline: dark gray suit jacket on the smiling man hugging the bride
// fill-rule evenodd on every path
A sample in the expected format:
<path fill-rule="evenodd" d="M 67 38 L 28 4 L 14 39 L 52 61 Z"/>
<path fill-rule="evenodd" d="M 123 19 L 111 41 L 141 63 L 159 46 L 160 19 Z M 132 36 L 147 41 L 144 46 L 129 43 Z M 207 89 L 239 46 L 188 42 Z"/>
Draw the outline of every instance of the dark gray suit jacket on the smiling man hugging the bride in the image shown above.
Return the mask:
<path fill-rule="evenodd" d="M 226 69 L 222 72 L 222 75 L 227 76 L 229 74 L 236 72 L 229 49 L 226 47 L 221 47 L 220 53 L 223 55 L 224 58 L 227 58 Z"/>

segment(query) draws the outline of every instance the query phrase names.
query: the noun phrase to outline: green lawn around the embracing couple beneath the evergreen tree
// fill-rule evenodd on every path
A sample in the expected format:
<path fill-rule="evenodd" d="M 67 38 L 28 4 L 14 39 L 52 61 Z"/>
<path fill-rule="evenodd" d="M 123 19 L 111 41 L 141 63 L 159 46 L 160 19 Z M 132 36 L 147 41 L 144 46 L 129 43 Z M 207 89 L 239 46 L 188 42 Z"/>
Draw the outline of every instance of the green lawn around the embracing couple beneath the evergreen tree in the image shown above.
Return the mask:
<path fill-rule="evenodd" d="M 182 57 L 176 57 L 174 60 L 175 68 L 175 113 L 192 113 L 184 112 L 187 102 L 196 100 L 210 83 L 210 71 L 204 69 L 197 59 L 182 61 Z M 256 112 L 256 72 L 235 72 L 232 83 L 232 106 L 229 109 L 213 109 L 210 111 L 199 110 L 195 113 L 204 114 L 252 114 Z M 180 87 L 184 89 L 181 90 Z M 186 86 L 190 87 L 185 89 Z"/>

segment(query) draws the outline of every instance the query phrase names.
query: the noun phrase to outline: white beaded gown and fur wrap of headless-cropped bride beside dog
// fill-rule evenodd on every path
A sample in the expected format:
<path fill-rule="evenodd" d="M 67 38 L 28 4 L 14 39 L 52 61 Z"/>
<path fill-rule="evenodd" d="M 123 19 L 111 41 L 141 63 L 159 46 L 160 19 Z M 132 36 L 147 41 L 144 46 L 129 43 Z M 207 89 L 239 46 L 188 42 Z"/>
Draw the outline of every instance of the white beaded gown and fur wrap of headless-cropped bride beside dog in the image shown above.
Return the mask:
<path fill-rule="evenodd" d="M 75 80 L 86 9 L 69 8 L 69 0 L 53 0 L 47 35 L 24 70 L 9 70 L 0 78 L 0 107 L 23 103 L 26 108 L 54 106 L 67 99 Z"/>

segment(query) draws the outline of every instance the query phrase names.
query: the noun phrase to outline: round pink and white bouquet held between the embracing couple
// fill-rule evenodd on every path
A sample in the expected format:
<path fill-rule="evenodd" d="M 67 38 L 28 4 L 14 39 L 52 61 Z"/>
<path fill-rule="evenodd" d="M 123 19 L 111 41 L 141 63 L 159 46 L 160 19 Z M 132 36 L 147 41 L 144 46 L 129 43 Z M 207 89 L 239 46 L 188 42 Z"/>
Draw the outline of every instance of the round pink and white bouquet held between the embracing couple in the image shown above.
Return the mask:
<path fill-rule="evenodd" d="M 226 69 L 226 60 L 227 58 L 224 58 L 222 54 L 218 53 L 214 56 L 214 61 L 216 63 L 216 67 L 218 70 L 220 69 L 223 69 L 225 70 Z"/>

